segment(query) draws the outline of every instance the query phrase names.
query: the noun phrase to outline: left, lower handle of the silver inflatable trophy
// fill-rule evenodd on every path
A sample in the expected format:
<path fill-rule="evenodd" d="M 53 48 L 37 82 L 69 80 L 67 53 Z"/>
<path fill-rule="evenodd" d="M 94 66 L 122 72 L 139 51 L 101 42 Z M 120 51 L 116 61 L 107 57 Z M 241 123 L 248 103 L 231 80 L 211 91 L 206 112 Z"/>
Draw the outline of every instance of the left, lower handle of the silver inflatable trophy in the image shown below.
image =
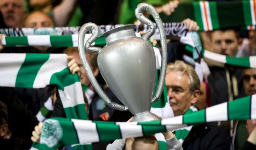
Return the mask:
<path fill-rule="evenodd" d="M 90 36 L 90 38 L 86 41 L 86 43 L 84 45 L 84 37 L 88 31 L 92 31 L 92 36 Z M 82 64 L 84 66 L 84 69 L 87 73 L 88 78 L 90 79 L 94 89 L 99 94 L 99 96 L 102 98 L 102 100 L 104 100 L 104 102 L 111 108 L 114 108 L 116 110 L 126 111 L 126 110 L 128 110 L 128 108 L 126 106 L 117 104 L 115 102 L 111 102 L 111 100 L 108 98 L 108 96 L 104 93 L 104 91 L 100 87 L 99 83 L 97 82 L 96 78 L 94 77 L 94 74 L 93 74 L 93 72 L 90 68 L 90 65 L 86 59 L 86 52 L 84 49 L 86 49 L 88 52 L 92 52 L 92 53 L 98 53 L 102 49 L 100 47 L 91 47 L 92 43 L 96 41 L 96 39 L 98 38 L 99 35 L 100 35 L 99 28 L 94 23 L 87 23 L 81 27 L 81 29 L 78 33 L 78 50 L 79 50 L 80 59 L 82 61 Z"/>

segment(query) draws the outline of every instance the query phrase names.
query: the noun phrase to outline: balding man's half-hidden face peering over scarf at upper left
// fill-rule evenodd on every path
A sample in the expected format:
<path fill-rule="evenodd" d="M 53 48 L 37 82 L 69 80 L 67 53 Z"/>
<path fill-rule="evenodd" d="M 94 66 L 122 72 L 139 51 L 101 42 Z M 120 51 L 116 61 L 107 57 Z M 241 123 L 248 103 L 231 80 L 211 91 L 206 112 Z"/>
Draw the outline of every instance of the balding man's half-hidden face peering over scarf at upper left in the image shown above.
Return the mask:
<path fill-rule="evenodd" d="M 53 28 L 54 23 L 42 12 L 33 12 L 25 21 L 25 28 Z"/>

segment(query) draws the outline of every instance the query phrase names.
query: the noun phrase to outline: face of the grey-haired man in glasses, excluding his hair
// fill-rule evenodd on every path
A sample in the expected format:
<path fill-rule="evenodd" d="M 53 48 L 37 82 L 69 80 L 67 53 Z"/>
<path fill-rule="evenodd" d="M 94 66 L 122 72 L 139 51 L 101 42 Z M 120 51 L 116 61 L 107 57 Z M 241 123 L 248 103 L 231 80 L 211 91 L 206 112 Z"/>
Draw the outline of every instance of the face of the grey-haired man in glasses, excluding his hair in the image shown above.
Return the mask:
<path fill-rule="evenodd" d="M 197 101 L 189 90 L 188 81 L 188 76 L 183 72 L 171 71 L 166 74 L 165 82 L 174 116 L 184 114 Z"/>

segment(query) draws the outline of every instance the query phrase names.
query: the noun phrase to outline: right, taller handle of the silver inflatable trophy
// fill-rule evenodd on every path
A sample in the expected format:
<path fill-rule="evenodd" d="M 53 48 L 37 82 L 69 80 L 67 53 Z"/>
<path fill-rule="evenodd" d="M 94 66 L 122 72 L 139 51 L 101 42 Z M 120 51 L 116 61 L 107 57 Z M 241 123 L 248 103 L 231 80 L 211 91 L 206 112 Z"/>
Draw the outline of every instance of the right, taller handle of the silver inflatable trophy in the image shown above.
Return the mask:
<path fill-rule="evenodd" d="M 165 34 L 165 29 L 163 26 L 163 22 L 161 18 L 159 17 L 158 12 L 155 10 L 155 8 L 146 3 L 140 3 L 138 4 L 136 10 L 135 10 L 135 15 L 138 20 L 144 24 L 147 24 L 150 28 L 146 34 L 142 36 L 144 39 L 149 39 L 155 32 L 156 27 L 154 26 L 153 22 L 151 22 L 148 18 L 146 18 L 143 13 L 145 11 L 150 12 L 150 14 L 153 16 L 154 20 L 156 21 L 156 25 L 158 26 L 159 29 L 159 34 L 160 34 L 160 41 L 161 41 L 161 56 L 162 56 L 162 62 L 161 62 L 161 71 L 160 71 L 160 78 L 158 81 L 158 86 L 156 88 L 156 94 L 154 98 L 152 99 L 152 102 L 156 102 L 159 100 L 163 88 L 164 88 L 164 81 L 165 81 L 165 74 L 166 74 L 166 67 L 167 67 L 167 45 L 166 45 L 166 34 Z"/>

